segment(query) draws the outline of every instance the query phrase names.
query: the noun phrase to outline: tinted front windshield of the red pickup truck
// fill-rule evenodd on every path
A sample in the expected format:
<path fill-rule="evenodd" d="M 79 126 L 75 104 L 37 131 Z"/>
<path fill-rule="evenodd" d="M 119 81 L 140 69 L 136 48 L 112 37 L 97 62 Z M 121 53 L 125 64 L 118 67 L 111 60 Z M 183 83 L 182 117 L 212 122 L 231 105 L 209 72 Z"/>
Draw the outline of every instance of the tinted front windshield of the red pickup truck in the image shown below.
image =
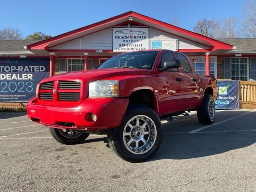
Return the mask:
<path fill-rule="evenodd" d="M 152 69 L 158 51 L 137 51 L 124 53 L 103 62 L 97 69 L 108 68 L 138 68 Z"/>

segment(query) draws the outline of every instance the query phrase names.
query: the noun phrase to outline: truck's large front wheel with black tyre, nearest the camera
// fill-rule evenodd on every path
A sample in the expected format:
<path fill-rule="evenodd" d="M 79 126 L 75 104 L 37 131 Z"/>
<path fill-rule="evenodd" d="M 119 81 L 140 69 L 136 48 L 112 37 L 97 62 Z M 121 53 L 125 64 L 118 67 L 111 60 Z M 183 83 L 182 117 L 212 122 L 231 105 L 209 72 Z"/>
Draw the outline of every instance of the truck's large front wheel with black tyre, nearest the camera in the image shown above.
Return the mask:
<path fill-rule="evenodd" d="M 143 105 L 126 111 L 122 124 L 108 130 L 108 144 L 122 159 L 139 162 L 148 159 L 160 147 L 162 126 L 156 112 Z"/>

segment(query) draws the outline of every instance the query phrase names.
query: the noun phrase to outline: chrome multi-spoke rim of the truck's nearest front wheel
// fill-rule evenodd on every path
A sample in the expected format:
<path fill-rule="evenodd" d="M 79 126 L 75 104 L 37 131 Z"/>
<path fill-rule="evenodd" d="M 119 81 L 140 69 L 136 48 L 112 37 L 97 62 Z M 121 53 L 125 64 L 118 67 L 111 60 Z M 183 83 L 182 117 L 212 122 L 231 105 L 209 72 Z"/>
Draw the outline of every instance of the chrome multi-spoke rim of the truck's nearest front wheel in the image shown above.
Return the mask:
<path fill-rule="evenodd" d="M 131 118 L 123 131 L 123 142 L 127 150 L 133 154 L 148 152 L 156 142 L 156 125 L 146 115 L 137 115 Z"/>

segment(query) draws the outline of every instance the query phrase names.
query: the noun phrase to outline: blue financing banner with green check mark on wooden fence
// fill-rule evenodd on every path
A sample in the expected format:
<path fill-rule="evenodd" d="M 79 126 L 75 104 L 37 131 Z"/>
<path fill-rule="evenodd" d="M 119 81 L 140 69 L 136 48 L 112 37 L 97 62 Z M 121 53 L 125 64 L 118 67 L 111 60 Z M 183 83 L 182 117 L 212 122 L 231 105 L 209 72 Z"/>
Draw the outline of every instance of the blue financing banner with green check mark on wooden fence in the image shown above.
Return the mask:
<path fill-rule="evenodd" d="M 218 81 L 216 109 L 239 109 L 238 90 L 238 81 Z"/>

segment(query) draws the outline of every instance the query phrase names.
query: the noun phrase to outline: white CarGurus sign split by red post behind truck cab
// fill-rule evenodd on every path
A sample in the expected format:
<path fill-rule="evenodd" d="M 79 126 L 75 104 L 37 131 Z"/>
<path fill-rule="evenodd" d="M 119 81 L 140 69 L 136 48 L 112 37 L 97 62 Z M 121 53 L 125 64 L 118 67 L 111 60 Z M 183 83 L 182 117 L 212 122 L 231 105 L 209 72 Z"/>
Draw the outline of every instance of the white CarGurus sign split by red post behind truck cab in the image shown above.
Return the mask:
<path fill-rule="evenodd" d="M 205 57 L 189 56 L 197 74 L 205 74 Z M 210 56 L 210 76 L 217 78 L 217 57 Z"/>

